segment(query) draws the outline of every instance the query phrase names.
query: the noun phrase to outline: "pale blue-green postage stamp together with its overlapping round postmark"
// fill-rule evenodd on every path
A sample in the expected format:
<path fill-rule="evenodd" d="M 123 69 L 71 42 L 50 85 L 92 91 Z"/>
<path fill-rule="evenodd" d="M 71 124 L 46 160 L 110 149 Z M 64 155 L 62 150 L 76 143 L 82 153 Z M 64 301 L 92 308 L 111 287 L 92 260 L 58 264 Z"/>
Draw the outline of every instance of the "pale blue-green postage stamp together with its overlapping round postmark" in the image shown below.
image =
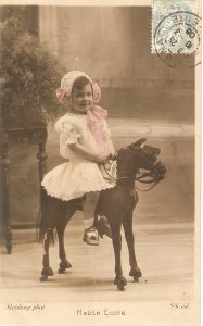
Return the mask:
<path fill-rule="evenodd" d="M 201 17 L 198 2 L 154 0 L 152 5 L 152 53 L 170 67 L 199 64 Z"/>

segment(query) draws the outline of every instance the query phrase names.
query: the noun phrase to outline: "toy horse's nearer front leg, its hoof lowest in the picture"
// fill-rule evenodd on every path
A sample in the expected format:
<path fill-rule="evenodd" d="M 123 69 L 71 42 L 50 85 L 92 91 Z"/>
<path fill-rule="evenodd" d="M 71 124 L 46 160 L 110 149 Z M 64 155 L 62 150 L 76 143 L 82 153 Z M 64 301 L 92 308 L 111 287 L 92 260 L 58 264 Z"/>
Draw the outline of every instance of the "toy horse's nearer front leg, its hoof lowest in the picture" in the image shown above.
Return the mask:
<path fill-rule="evenodd" d="M 127 285 L 126 278 L 123 275 L 122 269 L 122 237 L 120 237 L 120 227 L 122 227 L 122 218 L 118 214 L 115 214 L 114 217 L 109 218 L 109 223 L 112 229 L 112 241 L 114 248 L 115 255 L 115 279 L 114 284 L 117 285 L 118 290 L 123 291 L 125 286 Z"/>

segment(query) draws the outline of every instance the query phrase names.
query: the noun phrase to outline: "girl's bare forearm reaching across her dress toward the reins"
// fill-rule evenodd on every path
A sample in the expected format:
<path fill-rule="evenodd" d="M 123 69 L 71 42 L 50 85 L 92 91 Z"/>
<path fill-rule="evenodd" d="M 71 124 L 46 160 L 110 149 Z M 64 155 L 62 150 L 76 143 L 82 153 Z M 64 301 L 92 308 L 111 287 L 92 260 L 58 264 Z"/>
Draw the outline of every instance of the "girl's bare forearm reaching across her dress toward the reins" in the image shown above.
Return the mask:
<path fill-rule="evenodd" d="M 97 154 L 92 150 L 88 149 L 87 147 L 76 142 L 76 143 L 69 143 L 68 145 L 71 150 L 74 151 L 76 154 L 83 156 L 84 159 L 97 163 L 104 163 L 107 159 L 107 156 L 104 156 L 102 154 Z"/>

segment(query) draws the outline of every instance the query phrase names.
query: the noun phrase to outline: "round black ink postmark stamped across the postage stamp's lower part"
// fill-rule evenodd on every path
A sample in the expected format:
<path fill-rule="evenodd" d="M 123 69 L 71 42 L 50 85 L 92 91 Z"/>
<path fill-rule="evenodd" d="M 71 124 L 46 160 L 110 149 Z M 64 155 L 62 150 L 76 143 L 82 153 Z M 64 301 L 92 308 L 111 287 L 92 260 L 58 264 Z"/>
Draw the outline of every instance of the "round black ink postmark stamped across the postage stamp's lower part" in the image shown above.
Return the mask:
<path fill-rule="evenodd" d="M 170 67 L 193 67 L 200 63 L 201 18 L 188 11 L 165 16 L 154 33 L 154 48 Z"/>

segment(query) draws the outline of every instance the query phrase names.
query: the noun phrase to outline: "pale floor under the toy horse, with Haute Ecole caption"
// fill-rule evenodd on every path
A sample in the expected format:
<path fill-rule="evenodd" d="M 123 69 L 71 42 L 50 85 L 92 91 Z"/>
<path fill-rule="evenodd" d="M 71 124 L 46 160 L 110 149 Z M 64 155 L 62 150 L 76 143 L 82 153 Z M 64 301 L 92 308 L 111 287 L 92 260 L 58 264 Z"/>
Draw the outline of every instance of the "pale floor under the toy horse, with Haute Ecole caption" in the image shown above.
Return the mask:
<path fill-rule="evenodd" d="M 11 255 L 1 247 L 0 325 L 199 325 L 192 223 L 135 225 L 137 260 L 143 276 L 139 283 L 128 276 L 123 240 L 128 285 L 118 291 L 113 284 L 111 239 L 101 239 L 98 247 L 84 243 L 83 216 L 76 215 L 65 234 L 73 267 L 58 274 L 58 246 L 51 247 L 55 274 L 47 283 L 39 281 L 42 244 L 35 242 L 34 230 L 14 231 Z"/>

